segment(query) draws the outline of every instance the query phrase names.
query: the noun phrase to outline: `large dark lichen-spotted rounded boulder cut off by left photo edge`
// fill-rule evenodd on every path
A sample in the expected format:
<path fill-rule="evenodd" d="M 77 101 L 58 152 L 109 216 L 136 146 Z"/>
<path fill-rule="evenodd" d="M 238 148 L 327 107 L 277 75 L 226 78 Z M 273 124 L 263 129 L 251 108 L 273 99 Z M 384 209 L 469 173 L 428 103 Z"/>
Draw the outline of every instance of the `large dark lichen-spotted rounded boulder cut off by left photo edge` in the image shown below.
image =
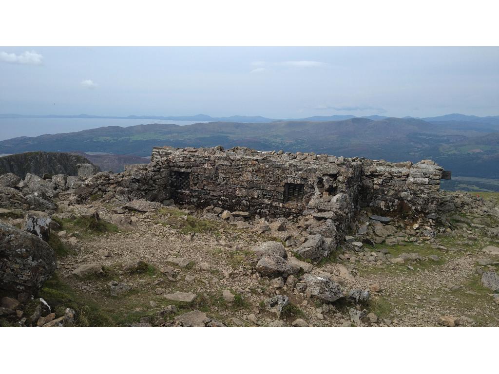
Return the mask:
<path fill-rule="evenodd" d="M 35 293 L 55 271 L 54 250 L 39 237 L 0 223 L 0 290 Z"/>

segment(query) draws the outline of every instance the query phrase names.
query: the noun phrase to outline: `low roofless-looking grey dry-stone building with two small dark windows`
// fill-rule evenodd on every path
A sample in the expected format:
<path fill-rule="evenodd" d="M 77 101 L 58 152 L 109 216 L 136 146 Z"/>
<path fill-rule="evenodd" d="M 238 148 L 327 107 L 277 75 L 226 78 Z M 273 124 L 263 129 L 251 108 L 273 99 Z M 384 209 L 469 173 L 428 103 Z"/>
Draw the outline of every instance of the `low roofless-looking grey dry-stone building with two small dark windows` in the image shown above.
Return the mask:
<path fill-rule="evenodd" d="M 98 173 L 78 187 L 87 198 L 173 199 L 199 208 L 216 206 L 252 216 L 311 216 L 309 232 L 335 247 L 354 213 L 434 214 L 443 169 L 432 161 L 389 163 L 314 153 L 248 148 L 155 147 L 151 163 L 120 174 Z"/>

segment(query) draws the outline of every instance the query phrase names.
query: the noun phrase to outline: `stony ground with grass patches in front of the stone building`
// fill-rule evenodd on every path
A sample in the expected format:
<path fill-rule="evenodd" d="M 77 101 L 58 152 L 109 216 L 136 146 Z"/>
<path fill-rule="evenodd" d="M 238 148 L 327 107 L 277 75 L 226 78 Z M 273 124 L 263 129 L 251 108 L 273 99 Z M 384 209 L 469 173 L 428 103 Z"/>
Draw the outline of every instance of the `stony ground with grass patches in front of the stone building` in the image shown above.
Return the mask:
<path fill-rule="evenodd" d="M 499 325 L 499 194 L 441 192 L 438 218 L 424 224 L 360 211 L 341 247 L 319 262 L 294 251 L 306 217 L 55 203 L 48 243 L 57 269 L 36 295 L 51 314 L 35 326 L 62 325 L 68 313 L 74 326 Z M 0 219 L 20 226 L 24 213 L 2 209 Z M 260 261 L 267 250 L 282 251 L 269 257 L 273 270 Z M 325 278 L 332 283 L 315 287 Z M 33 312 L 18 304 L 2 299 L 2 326 L 27 324 Z"/>

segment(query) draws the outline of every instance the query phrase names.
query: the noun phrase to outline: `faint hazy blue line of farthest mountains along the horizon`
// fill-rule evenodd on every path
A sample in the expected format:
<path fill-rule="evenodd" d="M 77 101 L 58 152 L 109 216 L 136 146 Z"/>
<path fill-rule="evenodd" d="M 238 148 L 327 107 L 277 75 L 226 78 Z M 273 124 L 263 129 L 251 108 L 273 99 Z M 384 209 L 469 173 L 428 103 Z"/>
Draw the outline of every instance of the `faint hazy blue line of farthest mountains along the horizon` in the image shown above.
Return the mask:
<path fill-rule="evenodd" d="M 88 114 L 77 114 L 77 115 L 23 115 L 23 114 L 0 114 L 0 118 L 85 118 L 85 119 L 130 119 L 130 120 L 169 120 L 169 121 L 200 121 L 200 122 L 241 122 L 241 123 L 271 123 L 280 121 L 314 121 L 314 122 L 327 122 L 327 121 L 344 121 L 352 118 L 367 118 L 374 121 L 383 120 L 389 118 L 387 116 L 364 116 L 356 117 L 353 115 L 333 115 L 333 116 L 313 116 L 306 118 L 297 119 L 275 119 L 266 118 L 262 116 L 230 116 L 230 117 L 212 117 L 207 114 L 197 114 L 194 116 L 93 116 Z M 404 117 L 415 118 L 415 117 Z M 464 114 L 447 114 L 440 117 L 427 117 L 419 118 L 427 122 L 442 122 L 442 121 L 461 121 L 461 122 L 480 122 L 499 125 L 499 116 L 489 116 L 489 117 L 477 117 L 477 116 L 467 116 Z"/>

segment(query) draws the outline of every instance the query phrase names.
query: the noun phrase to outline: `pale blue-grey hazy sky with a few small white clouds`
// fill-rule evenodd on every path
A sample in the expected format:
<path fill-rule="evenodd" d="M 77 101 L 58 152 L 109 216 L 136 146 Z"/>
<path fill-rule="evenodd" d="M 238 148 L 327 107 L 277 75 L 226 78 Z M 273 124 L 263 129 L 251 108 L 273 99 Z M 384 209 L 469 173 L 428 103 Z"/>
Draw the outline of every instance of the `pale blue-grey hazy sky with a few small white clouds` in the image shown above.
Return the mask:
<path fill-rule="evenodd" d="M 0 47 L 0 113 L 499 115 L 499 48 Z"/>

